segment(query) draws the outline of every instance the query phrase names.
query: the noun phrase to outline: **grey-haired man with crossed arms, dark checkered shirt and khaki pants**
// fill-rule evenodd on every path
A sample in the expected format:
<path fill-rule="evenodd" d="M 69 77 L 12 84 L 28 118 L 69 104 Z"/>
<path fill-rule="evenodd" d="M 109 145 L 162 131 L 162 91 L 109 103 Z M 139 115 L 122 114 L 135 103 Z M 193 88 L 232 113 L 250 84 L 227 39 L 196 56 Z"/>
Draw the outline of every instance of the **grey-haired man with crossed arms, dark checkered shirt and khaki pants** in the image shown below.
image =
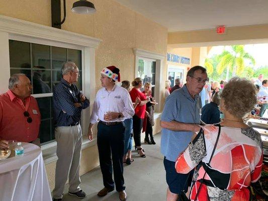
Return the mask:
<path fill-rule="evenodd" d="M 74 85 L 79 77 L 75 63 L 66 62 L 61 68 L 62 78 L 54 87 L 53 109 L 55 138 L 57 141 L 57 164 L 53 199 L 62 200 L 64 185 L 69 177 L 69 194 L 78 198 L 86 196 L 79 187 L 79 167 L 82 146 L 82 131 L 79 121 L 82 109 L 90 102 Z"/>

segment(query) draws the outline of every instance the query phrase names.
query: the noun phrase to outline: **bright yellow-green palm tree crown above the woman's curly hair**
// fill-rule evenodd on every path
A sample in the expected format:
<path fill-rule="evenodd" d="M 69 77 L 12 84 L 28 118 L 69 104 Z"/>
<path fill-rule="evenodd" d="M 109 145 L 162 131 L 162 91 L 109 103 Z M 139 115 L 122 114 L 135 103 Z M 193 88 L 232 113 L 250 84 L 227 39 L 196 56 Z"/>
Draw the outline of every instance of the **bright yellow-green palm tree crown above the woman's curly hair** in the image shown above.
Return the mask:
<path fill-rule="evenodd" d="M 247 59 L 255 64 L 255 59 L 244 50 L 244 45 L 232 45 L 231 51 L 224 50 L 219 55 L 220 62 L 217 65 L 218 74 L 222 74 L 226 68 L 226 80 L 229 78 L 229 70 L 232 70 L 232 76 L 240 75 L 245 69 L 244 60 Z"/>

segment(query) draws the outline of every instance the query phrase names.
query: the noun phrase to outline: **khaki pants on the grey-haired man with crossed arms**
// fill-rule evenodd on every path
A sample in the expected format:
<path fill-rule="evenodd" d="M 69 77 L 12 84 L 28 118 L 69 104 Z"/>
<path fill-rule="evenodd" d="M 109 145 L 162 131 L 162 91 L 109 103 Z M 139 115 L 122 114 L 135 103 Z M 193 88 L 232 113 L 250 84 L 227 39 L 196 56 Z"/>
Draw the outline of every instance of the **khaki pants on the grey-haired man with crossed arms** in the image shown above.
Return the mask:
<path fill-rule="evenodd" d="M 82 132 L 81 127 L 66 126 L 55 128 L 57 156 L 55 188 L 52 192 L 55 199 L 62 198 L 64 185 L 69 177 L 69 192 L 80 190 L 79 177 Z"/>

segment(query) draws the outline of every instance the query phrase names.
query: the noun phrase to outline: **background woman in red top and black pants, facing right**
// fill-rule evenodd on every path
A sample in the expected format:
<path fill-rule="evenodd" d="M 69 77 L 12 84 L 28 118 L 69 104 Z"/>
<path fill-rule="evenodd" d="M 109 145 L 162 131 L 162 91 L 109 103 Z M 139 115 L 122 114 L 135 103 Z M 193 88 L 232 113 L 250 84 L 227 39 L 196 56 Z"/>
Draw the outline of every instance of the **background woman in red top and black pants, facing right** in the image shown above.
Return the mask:
<path fill-rule="evenodd" d="M 133 86 L 130 91 L 132 102 L 134 103 L 137 97 L 141 100 L 138 106 L 135 108 L 135 115 L 133 116 L 133 137 L 135 141 L 135 148 L 137 148 L 140 157 L 145 158 L 146 155 L 141 147 L 140 135 L 143 119 L 145 117 L 146 103 L 150 101 L 150 98 L 140 91 L 140 88 L 143 85 L 140 77 L 136 77 L 131 84 Z"/>

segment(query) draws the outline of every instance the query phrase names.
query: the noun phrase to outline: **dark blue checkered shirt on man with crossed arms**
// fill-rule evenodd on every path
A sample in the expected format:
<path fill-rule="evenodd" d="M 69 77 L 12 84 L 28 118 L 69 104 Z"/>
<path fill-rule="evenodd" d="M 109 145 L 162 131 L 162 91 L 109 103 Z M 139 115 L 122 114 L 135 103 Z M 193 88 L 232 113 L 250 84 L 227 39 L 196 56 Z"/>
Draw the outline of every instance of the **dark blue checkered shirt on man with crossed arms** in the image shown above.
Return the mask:
<path fill-rule="evenodd" d="M 55 127 L 58 126 L 70 126 L 81 119 L 82 109 L 90 106 L 88 99 L 84 102 L 80 101 L 80 91 L 74 85 L 61 78 L 53 90 L 53 109 L 54 109 L 54 121 Z M 81 103 L 79 108 L 76 108 L 73 104 Z"/>

